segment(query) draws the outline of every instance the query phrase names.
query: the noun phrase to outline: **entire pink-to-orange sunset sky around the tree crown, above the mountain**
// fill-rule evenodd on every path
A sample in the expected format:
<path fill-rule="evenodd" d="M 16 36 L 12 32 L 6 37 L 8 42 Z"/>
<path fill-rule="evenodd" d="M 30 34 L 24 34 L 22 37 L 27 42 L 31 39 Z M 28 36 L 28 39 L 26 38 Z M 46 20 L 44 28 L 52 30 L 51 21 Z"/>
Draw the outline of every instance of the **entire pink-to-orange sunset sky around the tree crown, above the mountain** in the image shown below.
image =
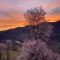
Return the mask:
<path fill-rule="evenodd" d="M 0 31 L 27 25 L 23 13 L 30 8 L 42 6 L 46 20 L 60 20 L 60 0 L 0 0 Z"/>

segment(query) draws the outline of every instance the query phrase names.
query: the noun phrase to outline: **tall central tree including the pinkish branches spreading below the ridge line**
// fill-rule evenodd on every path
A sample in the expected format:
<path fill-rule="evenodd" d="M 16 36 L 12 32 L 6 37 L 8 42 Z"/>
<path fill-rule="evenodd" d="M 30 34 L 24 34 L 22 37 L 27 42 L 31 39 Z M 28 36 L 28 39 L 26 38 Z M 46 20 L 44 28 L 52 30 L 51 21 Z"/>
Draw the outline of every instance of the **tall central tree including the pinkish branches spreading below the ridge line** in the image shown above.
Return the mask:
<path fill-rule="evenodd" d="M 50 31 L 52 31 L 52 25 L 42 23 L 46 22 L 45 14 L 45 11 L 41 7 L 34 7 L 33 9 L 27 10 L 24 14 L 26 21 L 33 26 L 32 32 L 34 34 L 35 40 L 44 40 L 45 37 L 48 37 L 47 35 L 50 33 Z M 48 39 L 45 40 L 47 41 Z"/>

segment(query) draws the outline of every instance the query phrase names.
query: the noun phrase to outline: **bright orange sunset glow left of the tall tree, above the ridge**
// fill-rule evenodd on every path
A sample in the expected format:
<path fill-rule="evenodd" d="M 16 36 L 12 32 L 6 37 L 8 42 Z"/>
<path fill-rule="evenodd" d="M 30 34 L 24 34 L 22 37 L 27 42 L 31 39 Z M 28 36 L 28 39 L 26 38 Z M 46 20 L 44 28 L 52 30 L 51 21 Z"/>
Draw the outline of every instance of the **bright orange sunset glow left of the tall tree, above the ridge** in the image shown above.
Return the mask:
<path fill-rule="evenodd" d="M 27 24 L 25 21 L 26 20 L 24 19 L 23 14 L 19 13 L 11 14 L 9 18 L 0 18 L 0 31 L 16 27 L 23 27 Z"/>

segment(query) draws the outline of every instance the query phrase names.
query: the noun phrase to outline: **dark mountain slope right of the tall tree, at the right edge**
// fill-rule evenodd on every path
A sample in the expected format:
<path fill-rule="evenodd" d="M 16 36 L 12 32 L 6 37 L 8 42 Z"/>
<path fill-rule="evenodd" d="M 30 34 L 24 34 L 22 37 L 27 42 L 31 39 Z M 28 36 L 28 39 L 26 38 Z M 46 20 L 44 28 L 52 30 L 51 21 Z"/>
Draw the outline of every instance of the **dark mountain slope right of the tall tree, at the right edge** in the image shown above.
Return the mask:
<path fill-rule="evenodd" d="M 51 39 L 55 40 L 56 42 L 60 42 L 60 21 L 52 23 L 54 26 L 53 33 L 51 35 Z"/>

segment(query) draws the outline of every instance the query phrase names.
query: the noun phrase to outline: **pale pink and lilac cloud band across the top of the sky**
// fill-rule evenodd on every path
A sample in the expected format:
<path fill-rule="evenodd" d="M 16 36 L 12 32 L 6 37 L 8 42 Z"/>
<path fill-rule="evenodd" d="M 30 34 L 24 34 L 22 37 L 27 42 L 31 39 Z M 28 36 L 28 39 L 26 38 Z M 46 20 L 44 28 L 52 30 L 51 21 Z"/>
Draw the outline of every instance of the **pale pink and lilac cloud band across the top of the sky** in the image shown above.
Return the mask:
<path fill-rule="evenodd" d="M 60 6 L 59 0 L 1 0 L 0 9 L 24 11 L 34 6 L 42 6 L 47 11 L 50 8 Z"/>

